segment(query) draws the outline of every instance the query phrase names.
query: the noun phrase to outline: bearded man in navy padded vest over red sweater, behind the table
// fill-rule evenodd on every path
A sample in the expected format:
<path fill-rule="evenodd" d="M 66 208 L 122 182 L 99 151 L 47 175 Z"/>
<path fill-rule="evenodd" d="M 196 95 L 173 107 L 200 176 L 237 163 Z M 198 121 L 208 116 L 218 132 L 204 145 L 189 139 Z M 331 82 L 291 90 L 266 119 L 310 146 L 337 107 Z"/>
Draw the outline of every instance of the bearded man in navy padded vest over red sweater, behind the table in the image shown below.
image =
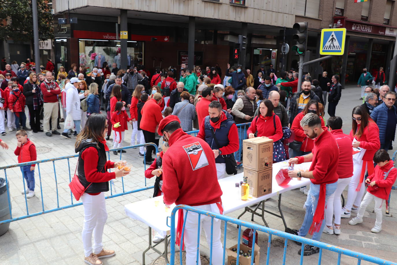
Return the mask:
<path fill-rule="evenodd" d="M 197 137 L 206 141 L 214 151 L 216 173 L 220 180 L 226 176 L 225 160 L 239 149 L 239 134 L 233 116 L 222 109 L 220 102 L 212 101 L 208 112 L 210 115 L 201 123 Z"/>

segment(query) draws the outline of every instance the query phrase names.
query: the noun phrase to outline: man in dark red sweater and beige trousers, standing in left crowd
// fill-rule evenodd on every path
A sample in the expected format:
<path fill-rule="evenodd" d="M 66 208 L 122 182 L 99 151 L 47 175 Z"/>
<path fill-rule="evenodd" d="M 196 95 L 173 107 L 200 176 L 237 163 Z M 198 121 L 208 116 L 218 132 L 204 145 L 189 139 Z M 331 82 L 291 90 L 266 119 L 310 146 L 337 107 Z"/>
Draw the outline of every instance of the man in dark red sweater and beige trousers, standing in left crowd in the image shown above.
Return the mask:
<path fill-rule="evenodd" d="M 46 79 L 40 85 L 41 92 L 43 94 L 43 130 L 47 136 L 52 134 L 60 135 L 61 133 L 56 131 L 58 122 L 58 95 L 61 93 L 59 86 L 56 82 L 52 81 L 52 72 L 46 72 Z M 50 133 L 50 118 L 52 125 L 52 133 Z"/>

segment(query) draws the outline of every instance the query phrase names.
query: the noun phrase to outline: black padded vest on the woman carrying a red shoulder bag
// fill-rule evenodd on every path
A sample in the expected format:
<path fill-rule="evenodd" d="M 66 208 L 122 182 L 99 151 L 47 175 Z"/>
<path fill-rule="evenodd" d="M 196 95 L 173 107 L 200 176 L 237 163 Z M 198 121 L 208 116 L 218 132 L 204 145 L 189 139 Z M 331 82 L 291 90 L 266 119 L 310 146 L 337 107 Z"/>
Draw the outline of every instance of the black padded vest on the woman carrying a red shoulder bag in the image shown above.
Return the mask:
<path fill-rule="evenodd" d="M 99 143 L 98 149 L 98 147 L 96 147 L 96 143 L 89 143 L 86 140 L 81 142 L 80 146 L 77 148 L 78 150 L 76 149 L 77 151 L 79 151 L 79 164 L 77 166 L 77 175 L 79 176 L 80 183 L 86 188 L 88 185 L 91 184 L 91 182 L 88 182 L 85 178 L 84 160 L 81 159 L 81 154 L 88 147 L 95 147 L 98 150 L 98 161 L 96 166 L 98 172 L 106 172 L 104 166 L 107 161 L 105 147 L 102 143 Z M 109 191 L 109 182 L 93 182 L 93 184 L 91 184 L 85 192 L 98 193 L 103 191 Z"/>

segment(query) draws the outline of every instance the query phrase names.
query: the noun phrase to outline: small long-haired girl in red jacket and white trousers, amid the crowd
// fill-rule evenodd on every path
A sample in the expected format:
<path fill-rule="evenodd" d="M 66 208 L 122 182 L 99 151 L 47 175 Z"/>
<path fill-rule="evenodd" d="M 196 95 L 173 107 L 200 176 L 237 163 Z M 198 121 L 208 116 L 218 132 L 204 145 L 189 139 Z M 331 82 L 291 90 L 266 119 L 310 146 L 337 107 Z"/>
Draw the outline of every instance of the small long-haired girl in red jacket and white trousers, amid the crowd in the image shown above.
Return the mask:
<path fill-rule="evenodd" d="M 124 140 L 124 131 L 128 130 L 127 122 L 132 124 L 131 118 L 128 117 L 127 112 L 125 111 L 124 103 L 118 101 L 114 108 L 114 112 L 110 117 L 110 121 L 112 122 L 112 129 L 114 131 L 113 137 L 113 148 L 118 148 L 123 146 Z M 125 153 L 125 150 L 121 150 L 122 153 Z M 119 151 L 113 151 L 114 155 L 120 153 Z"/>

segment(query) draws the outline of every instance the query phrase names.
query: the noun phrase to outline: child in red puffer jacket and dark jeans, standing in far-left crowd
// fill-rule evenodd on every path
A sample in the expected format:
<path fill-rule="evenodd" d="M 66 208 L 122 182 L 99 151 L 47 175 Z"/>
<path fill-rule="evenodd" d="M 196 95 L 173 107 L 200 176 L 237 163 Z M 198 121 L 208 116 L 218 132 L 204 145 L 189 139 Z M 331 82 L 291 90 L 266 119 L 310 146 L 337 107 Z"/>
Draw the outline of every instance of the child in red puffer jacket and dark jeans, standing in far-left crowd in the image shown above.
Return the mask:
<path fill-rule="evenodd" d="M 8 96 L 8 107 L 15 116 L 15 126 L 17 126 L 17 130 L 19 130 L 19 120 L 21 120 L 22 129 L 30 130 L 26 127 L 25 96 L 19 90 L 17 84 L 12 84 L 11 87 L 12 91 Z"/>

